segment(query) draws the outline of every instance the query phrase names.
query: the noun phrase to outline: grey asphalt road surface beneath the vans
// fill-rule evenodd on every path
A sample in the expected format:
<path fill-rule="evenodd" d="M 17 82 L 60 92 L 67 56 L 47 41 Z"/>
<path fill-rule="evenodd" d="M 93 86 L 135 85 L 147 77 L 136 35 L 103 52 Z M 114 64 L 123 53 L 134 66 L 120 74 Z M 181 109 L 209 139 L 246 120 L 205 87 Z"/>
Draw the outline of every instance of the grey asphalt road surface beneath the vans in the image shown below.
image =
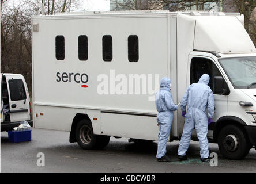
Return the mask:
<path fill-rule="evenodd" d="M 256 150 L 251 149 L 243 160 L 225 160 L 217 144 L 209 151 L 216 152 L 218 166 L 199 160 L 199 144 L 191 141 L 189 160 L 179 162 L 176 156 L 178 141 L 167 144 L 172 162 L 157 162 L 157 143 L 139 145 L 128 139 L 111 137 L 104 150 L 82 150 L 69 143 L 69 132 L 32 129 L 32 141 L 9 143 L 7 132 L 1 132 L 1 172 L 255 172 Z M 45 155 L 45 166 L 37 166 L 37 153 Z"/>

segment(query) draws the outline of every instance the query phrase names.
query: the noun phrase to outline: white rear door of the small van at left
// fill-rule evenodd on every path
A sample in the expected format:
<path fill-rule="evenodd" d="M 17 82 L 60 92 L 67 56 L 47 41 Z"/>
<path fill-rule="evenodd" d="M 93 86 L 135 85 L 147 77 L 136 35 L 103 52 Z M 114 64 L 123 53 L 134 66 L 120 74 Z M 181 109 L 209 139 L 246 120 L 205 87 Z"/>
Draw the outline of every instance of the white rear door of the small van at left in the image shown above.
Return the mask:
<path fill-rule="evenodd" d="M 29 95 L 22 75 L 6 75 L 9 90 L 10 121 L 30 120 Z"/>

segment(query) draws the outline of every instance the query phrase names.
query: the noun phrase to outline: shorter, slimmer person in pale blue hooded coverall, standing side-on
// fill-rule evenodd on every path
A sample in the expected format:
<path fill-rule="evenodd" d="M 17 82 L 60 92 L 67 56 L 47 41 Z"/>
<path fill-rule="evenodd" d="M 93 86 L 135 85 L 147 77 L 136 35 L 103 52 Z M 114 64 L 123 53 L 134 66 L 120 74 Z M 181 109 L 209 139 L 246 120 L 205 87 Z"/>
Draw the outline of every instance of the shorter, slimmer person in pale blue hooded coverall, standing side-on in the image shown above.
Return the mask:
<path fill-rule="evenodd" d="M 170 158 L 165 155 L 166 143 L 170 136 L 172 119 L 174 114 L 172 111 L 178 109 L 178 106 L 172 101 L 170 93 L 171 81 L 169 78 L 164 77 L 160 81 L 160 90 L 156 93 L 156 109 L 157 123 L 159 124 L 158 144 L 156 158 L 159 162 L 168 162 Z"/>

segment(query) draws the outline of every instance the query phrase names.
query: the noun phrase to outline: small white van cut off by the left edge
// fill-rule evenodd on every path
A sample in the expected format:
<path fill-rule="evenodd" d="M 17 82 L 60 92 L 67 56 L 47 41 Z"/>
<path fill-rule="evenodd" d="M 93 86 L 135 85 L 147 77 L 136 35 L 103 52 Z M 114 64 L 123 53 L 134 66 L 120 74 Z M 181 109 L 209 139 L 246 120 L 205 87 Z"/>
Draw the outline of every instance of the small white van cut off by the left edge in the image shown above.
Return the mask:
<path fill-rule="evenodd" d="M 1 132 L 11 131 L 27 121 L 31 127 L 31 102 L 21 74 L 1 74 Z"/>

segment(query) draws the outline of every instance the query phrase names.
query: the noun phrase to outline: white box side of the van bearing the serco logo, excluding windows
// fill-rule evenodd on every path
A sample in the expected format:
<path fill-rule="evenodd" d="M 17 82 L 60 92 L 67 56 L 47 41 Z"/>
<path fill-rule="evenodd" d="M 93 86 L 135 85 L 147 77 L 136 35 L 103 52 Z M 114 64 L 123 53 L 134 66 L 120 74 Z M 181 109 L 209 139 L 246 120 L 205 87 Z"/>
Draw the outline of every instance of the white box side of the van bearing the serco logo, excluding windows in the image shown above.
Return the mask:
<path fill-rule="evenodd" d="M 70 131 L 71 122 L 76 113 L 81 111 L 87 113 L 88 110 L 146 113 L 156 116 L 155 101 L 152 99 L 155 99 L 155 91 L 159 89 L 160 79 L 164 76 L 170 77 L 170 67 L 172 67 L 168 66 L 168 62 L 170 63 L 168 48 L 170 47 L 167 47 L 167 21 L 166 14 L 156 17 L 80 17 L 56 20 L 37 18 L 33 20 L 33 23 L 39 24 L 39 32 L 33 33 L 35 127 Z M 55 58 L 55 37 L 58 35 L 65 37 L 64 60 Z M 78 59 L 78 36 L 80 35 L 88 37 L 88 60 Z M 113 57 L 110 62 L 103 61 L 102 39 L 104 35 L 112 36 Z M 127 39 L 130 35 L 138 36 L 138 62 L 128 60 Z M 175 47 L 175 44 L 174 40 L 171 47 Z M 139 76 L 140 83 L 136 83 L 132 77 L 129 78 L 130 75 Z M 88 81 L 84 83 L 87 79 Z M 175 83 L 175 72 L 171 75 L 171 80 Z M 118 94 L 116 89 L 118 89 L 118 84 L 120 87 L 121 82 L 125 86 L 127 83 L 128 86 L 127 89 L 121 87 L 122 94 Z M 133 85 L 130 85 L 132 82 Z M 137 84 L 140 86 L 139 94 L 135 93 Z M 144 94 L 145 90 L 150 95 Z M 173 93 L 175 94 L 175 91 Z M 174 98 L 176 99 L 176 95 Z M 40 112 L 44 115 L 37 114 L 38 117 L 36 117 L 36 113 Z M 54 113 L 53 117 L 48 116 L 52 113 Z M 108 135 L 115 135 L 116 131 L 111 127 L 120 122 L 111 120 L 110 117 L 115 119 L 115 116 L 108 116 L 102 120 L 102 124 L 109 124 L 110 129 L 106 132 Z M 137 131 L 137 135 L 148 137 L 144 135 L 144 129 L 134 127 L 138 123 L 140 127 L 147 127 L 151 124 L 154 127 L 152 132 L 146 132 L 150 135 L 148 139 L 152 139 L 152 134 L 155 139 L 158 131 L 156 118 L 146 116 L 129 116 L 129 118 L 133 122 L 130 124 L 131 135 L 127 137 L 133 136 L 134 131 Z M 124 123 L 129 123 L 128 119 L 123 120 Z M 93 130 L 100 133 L 101 128 L 98 124 L 100 122 L 97 122 L 97 125 L 93 124 Z M 119 131 L 126 131 L 126 128 L 122 127 Z"/>

